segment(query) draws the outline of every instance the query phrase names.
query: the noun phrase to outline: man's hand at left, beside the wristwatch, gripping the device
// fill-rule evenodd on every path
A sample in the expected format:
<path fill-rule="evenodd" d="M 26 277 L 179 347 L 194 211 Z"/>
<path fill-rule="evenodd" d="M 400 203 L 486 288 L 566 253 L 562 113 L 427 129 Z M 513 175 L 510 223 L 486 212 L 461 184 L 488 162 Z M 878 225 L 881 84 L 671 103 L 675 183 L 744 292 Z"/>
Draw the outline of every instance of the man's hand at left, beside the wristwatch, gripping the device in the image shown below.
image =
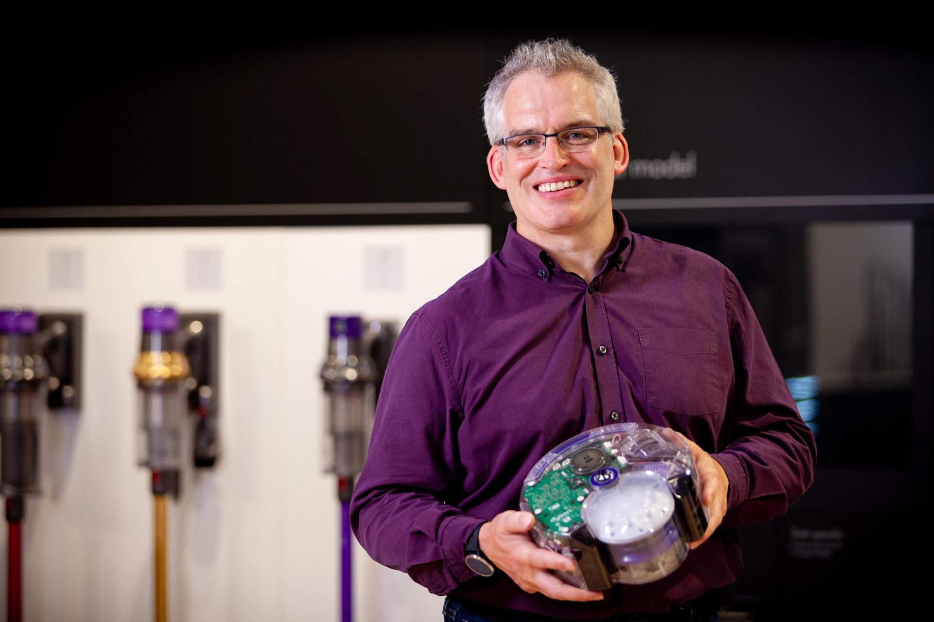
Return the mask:
<path fill-rule="evenodd" d="M 569 586 L 547 569 L 572 571 L 574 563 L 560 553 L 532 543 L 529 530 L 535 522 L 529 512 L 512 510 L 497 514 L 480 528 L 480 550 L 488 560 L 530 594 L 541 592 L 559 601 L 601 601 L 601 592 Z"/>

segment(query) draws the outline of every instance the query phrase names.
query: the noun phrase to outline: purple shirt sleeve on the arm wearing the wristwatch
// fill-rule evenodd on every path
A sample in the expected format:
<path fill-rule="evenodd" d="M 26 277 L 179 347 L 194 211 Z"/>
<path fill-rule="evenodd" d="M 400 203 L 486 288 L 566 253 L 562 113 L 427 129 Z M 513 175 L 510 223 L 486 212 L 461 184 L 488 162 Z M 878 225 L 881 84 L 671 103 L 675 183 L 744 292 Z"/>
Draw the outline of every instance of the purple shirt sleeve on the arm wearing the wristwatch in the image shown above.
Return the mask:
<path fill-rule="evenodd" d="M 458 477 L 460 391 L 450 352 L 424 311 L 403 327 L 379 394 L 370 451 L 350 505 L 361 546 L 433 594 L 474 577 L 463 545 L 483 522 L 445 503 Z"/>

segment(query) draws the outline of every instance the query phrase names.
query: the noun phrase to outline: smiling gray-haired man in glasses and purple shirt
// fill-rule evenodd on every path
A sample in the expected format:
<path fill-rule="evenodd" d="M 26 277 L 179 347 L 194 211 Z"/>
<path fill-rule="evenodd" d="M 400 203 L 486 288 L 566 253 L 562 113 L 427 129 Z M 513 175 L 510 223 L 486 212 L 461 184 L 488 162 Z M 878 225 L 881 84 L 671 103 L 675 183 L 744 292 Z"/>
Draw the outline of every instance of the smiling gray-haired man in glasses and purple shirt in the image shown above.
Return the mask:
<path fill-rule="evenodd" d="M 706 619 L 692 601 L 743 567 L 732 527 L 800 497 L 814 439 L 729 270 L 612 209 L 629 147 L 607 69 L 567 41 L 519 46 L 484 117 L 489 175 L 517 222 L 502 252 L 405 325 L 351 510 L 357 537 L 450 594 L 448 619 Z M 533 517 L 515 509 L 549 449 L 614 422 L 690 439 L 710 527 L 670 576 L 591 592 L 548 572 L 572 564 L 534 546 Z"/>

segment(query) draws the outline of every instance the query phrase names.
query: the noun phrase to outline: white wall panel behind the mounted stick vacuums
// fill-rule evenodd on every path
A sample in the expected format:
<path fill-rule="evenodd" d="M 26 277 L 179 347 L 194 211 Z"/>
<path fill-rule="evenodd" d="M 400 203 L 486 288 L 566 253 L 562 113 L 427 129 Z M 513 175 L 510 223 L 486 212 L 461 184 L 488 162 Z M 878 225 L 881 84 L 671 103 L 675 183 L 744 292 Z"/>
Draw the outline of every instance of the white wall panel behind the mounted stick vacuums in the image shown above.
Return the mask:
<path fill-rule="evenodd" d="M 214 470 L 187 468 L 170 504 L 172 619 L 337 619 L 339 505 L 318 456 L 327 315 L 401 326 L 488 253 L 486 226 L 0 231 L 0 306 L 85 322 L 83 408 L 44 418 L 44 491 L 27 500 L 27 619 L 151 616 L 131 367 L 154 300 L 221 313 L 224 454 Z M 359 546 L 355 562 L 358 620 L 439 619 L 441 599 L 405 574 Z"/>

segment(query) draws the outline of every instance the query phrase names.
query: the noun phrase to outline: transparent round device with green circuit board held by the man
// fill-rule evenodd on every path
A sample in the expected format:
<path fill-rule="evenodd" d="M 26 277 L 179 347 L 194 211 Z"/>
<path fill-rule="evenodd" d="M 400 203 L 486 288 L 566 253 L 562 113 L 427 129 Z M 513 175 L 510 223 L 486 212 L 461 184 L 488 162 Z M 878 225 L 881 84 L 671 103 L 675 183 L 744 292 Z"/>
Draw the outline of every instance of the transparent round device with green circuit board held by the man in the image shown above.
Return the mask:
<path fill-rule="evenodd" d="M 672 574 L 707 528 L 685 442 L 648 423 L 615 423 L 552 449 L 532 467 L 520 506 L 538 544 L 574 561 L 555 571 L 582 589 Z"/>

